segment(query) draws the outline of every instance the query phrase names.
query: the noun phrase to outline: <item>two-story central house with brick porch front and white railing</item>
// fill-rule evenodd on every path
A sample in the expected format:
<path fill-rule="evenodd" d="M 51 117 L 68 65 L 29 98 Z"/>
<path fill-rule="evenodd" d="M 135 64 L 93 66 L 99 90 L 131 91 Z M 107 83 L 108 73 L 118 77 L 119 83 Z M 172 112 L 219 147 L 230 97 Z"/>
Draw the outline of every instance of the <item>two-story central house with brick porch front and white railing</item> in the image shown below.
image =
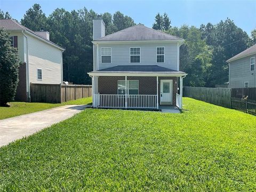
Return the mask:
<path fill-rule="evenodd" d="M 143 25 L 105 36 L 103 20 L 93 20 L 93 107 L 182 108 L 183 42 Z"/>

